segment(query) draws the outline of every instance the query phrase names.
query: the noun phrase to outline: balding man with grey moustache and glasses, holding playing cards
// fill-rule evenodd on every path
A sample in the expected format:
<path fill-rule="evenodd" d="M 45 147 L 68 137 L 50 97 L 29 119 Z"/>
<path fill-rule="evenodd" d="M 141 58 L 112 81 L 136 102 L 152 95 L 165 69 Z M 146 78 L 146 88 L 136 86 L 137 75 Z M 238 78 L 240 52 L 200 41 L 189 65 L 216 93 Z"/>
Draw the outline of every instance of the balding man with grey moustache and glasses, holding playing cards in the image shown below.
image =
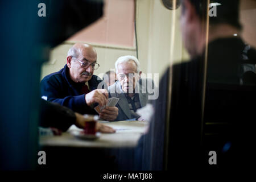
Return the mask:
<path fill-rule="evenodd" d="M 41 81 L 42 98 L 77 113 L 97 114 L 93 109 L 94 104 L 104 106 L 108 100 L 108 91 L 97 89 L 102 80 L 93 72 L 98 67 L 96 50 L 89 44 L 75 44 L 68 51 L 64 68 Z M 113 121 L 117 115 L 117 107 L 106 107 L 100 113 L 101 119 L 108 121 Z"/>

